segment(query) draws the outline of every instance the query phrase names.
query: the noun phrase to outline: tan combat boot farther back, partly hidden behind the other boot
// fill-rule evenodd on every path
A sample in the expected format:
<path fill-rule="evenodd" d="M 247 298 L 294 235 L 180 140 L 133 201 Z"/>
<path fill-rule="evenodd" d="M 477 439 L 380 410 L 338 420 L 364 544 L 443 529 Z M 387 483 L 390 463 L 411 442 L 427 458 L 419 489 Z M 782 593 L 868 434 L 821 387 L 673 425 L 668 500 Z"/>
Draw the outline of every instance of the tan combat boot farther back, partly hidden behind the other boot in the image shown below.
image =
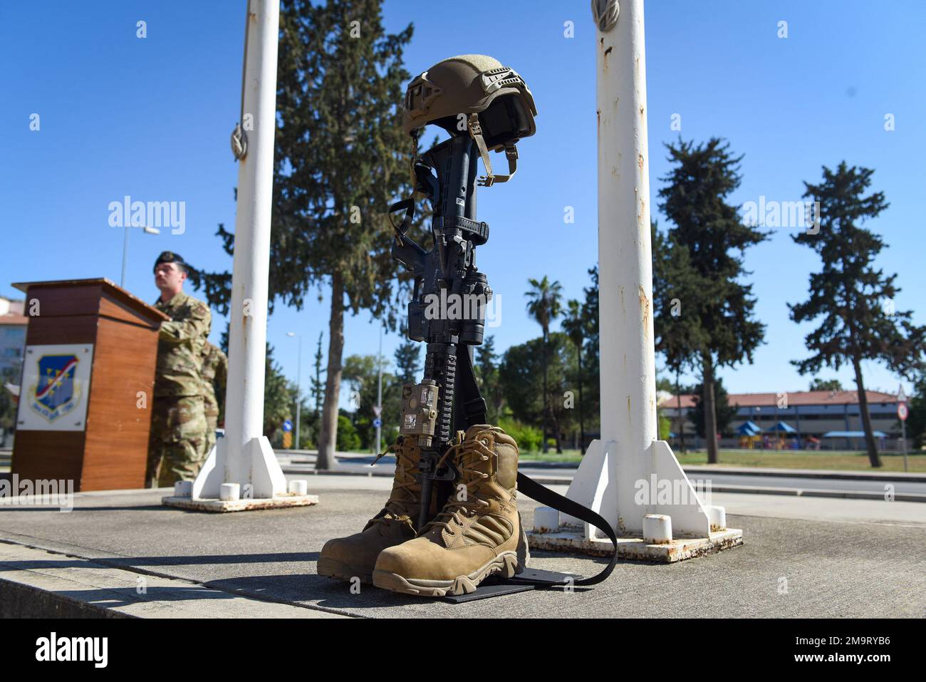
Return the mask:
<path fill-rule="evenodd" d="M 415 537 L 421 486 L 414 475 L 418 473 L 421 450 L 414 438 L 399 436 L 382 454 L 390 451 L 395 452 L 395 476 L 389 500 L 361 532 L 335 537 L 325 543 L 319 556 L 319 575 L 348 581 L 356 576 L 362 582 L 370 583 L 380 552 Z M 432 509 L 436 512 L 434 501 Z"/>

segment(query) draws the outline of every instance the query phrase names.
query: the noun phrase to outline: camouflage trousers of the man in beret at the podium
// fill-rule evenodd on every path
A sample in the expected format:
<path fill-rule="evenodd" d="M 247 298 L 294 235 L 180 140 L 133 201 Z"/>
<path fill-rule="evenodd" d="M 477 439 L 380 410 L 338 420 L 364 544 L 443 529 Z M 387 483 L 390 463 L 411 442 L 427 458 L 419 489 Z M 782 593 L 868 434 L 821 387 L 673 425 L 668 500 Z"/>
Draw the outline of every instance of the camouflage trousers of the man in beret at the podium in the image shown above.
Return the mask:
<path fill-rule="evenodd" d="M 148 439 L 146 486 L 192 481 L 206 461 L 207 425 L 202 396 L 156 396 Z"/>

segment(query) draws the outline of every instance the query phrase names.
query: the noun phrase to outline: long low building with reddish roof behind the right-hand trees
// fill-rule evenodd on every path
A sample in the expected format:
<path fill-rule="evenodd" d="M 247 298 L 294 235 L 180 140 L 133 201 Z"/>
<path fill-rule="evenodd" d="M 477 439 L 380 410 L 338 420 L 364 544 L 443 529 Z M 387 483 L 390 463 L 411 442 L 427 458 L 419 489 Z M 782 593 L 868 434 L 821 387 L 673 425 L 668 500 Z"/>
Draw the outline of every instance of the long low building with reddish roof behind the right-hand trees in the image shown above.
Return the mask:
<path fill-rule="evenodd" d="M 880 391 L 866 391 L 871 428 L 879 447 L 897 448 L 900 422 L 897 397 Z M 694 410 L 694 396 L 682 397 L 682 427 L 688 448 L 703 448 L 704 440 L 695 435 L 688 413 Z M 721 448 L 820 448 L 864 449 L 862 418 L 857 391 L 795 391 L 787 393 L 732 393 L 730 405 L 736 416 L 720 436 Z M 671 421 L 673 434 L 679 433 L 679 400 L 664 396 L 659 411 Z M 749 423 L 758 427 L 756 436 Z M 879 433 L 880 432 L 880 433 Z M 672 439 L 679 442 L 678 436 Z"/>

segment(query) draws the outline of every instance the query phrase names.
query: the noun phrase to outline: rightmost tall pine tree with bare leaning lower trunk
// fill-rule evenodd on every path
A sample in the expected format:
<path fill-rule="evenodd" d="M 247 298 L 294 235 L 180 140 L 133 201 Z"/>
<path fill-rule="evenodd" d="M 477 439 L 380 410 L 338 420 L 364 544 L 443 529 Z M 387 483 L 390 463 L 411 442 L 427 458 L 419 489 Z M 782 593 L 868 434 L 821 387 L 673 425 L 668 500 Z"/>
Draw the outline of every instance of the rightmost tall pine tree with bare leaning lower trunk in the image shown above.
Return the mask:
<path fill-rule="evenodd" d="M 859 226 L 888 207 L 882 192 L 863 196 L 873 172 L 849 168 L 843 161 L 835 171 L 824 166 L 821 183 L 804 183 L 804 196 L 820 202 L 820 224 L 792 238 L 820 254 L 822 270 L 810 275 L 810 297 L 788 307 L 791 319 L 798 323 L 822 318 L 820 326 L 805 337 L 813 355 L 792 360 L 798 372 L 817 373 L 823 365 L 836 370 L 844 363 L 852 365 L 869 460 L 872 467 L 880 467 L 861 362 L 881 360 L 910 378 L 922 367 L 926 326 L 914 325 L 909 310 L 893 309 L 900 291 L 894 284 L 897 275 L 885 276 L 873 264 L 884 243 Z"/>

